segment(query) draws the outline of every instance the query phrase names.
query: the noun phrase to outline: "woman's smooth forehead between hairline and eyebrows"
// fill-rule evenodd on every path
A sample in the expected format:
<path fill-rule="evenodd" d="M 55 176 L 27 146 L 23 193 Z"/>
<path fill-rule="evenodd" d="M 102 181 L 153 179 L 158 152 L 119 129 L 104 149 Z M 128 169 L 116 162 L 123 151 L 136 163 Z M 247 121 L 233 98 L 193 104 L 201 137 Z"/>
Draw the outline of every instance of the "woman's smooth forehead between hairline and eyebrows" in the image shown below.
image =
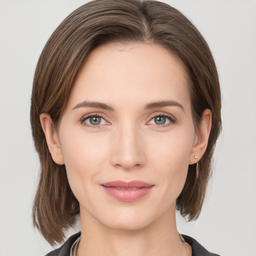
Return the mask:
<path fill-rule="evenodd" d="M 87 55 L 68 105 L 83 100 L 143 104 L 177 99 L 190 106 L 186 71 L 177 57 L 155 44 L 111 43 Z"/>

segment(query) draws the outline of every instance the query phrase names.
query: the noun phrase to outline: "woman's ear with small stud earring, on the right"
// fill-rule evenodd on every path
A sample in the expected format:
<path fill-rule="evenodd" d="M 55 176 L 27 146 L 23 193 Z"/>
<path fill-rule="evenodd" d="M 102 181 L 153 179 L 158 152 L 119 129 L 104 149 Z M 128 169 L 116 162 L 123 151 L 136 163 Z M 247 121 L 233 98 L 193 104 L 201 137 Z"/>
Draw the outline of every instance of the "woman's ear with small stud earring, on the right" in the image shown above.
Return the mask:
<path fill-rule="evenodd" d="M 189 164 L 196 163 L 204 154 L 208 144 L 210 128 L 211 128 L 211 111 L 209 109 L 204 109 L 202 113 L 199 129 L 195 136 L 193 147 L 190 152 Z"/>

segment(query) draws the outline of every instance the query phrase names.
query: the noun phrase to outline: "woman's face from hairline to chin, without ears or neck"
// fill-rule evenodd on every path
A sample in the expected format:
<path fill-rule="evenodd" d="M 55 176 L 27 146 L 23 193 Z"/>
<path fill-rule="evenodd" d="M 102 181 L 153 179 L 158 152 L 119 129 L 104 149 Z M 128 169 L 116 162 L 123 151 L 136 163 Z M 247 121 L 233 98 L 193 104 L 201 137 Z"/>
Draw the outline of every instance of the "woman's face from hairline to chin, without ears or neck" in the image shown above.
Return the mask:
<path fill-rule="evenodd" d="M 182 63 L 157 45 L 109 44 L 76 76 L 54 160 L 81 218 L 138 229 L 173 214 L 196 140 Z"/>

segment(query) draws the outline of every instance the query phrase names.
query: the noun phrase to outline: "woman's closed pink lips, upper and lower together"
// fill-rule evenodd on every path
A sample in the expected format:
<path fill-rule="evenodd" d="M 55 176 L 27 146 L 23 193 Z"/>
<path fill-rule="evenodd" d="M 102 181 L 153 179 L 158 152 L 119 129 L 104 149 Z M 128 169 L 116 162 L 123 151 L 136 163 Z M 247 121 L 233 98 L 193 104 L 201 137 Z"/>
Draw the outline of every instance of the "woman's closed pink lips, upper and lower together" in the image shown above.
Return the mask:
<path fill-rule="evenodd" d="M 121 201 L 137 200 L 148 194 L 154 186 L 139 180 L 132 180 L 130 182 L 115 180 L 101 185 L 109 195 Z"/>

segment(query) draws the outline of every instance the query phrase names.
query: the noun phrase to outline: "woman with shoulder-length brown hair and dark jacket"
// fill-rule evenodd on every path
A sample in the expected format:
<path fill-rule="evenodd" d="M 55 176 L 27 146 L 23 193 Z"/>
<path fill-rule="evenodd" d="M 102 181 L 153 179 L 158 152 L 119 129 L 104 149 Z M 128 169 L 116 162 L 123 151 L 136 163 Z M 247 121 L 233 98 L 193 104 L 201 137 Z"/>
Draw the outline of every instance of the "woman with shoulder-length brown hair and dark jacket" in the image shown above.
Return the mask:
<path fill-rule="evenodd" d="M 41 173 L 33 221 L 48 255 L 216 255 L 180 235 L 196 219 L 221 127 L 207 43 L 158 1 L 73 11 L 35 70 L 31 126 Z"/>

